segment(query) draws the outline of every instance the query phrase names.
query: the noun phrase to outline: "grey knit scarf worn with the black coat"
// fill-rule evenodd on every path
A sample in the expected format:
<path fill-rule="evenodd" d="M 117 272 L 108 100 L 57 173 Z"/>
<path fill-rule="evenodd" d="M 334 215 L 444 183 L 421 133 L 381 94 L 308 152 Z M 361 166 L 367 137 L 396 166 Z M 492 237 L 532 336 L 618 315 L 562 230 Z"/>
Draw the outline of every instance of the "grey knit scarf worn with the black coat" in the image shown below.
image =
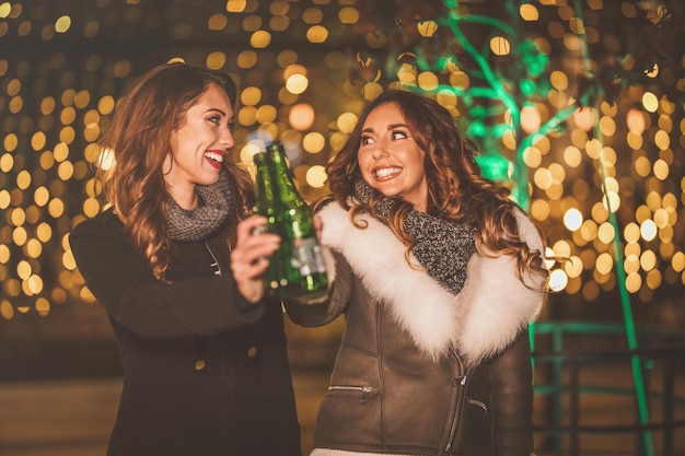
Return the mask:
<path fill-rule="evenodd" d="M 170 199 L 169 234 L 174 241 L 202 241 L 216 233 L 227 221 L 233 208 L 233 194 L 227 172 L 222 171 L 216 184 L 196 186 L 200 197 L 197 208 L 183 209 Z"/>

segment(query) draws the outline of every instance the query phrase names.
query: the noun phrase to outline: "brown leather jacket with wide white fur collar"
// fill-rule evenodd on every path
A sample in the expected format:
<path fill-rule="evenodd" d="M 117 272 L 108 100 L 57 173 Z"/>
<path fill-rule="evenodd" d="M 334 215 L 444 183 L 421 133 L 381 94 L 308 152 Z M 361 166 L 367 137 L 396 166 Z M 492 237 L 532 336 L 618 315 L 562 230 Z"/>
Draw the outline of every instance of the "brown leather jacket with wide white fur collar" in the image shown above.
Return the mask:
<path fill-rule="evenodd" d="M 453 296 L 407 265 L 404 245 L 380 222 L 370 219 L 368 229 L 357 230 L 335 204 L 321 215 L 323 243 L 335 257 L 329 299 L 287 303 L 304 326 L 342 313 L 347 321 L 314 446 L 529 456 L 527 323 L 542 305 L 542 283 L 531 279 L 534 289 L 525 288 L 508 277 L 509 259 L 475 255 L 464 289 Z M 531 247 L 542 248 L 536 242 L 531 236 Z"/>

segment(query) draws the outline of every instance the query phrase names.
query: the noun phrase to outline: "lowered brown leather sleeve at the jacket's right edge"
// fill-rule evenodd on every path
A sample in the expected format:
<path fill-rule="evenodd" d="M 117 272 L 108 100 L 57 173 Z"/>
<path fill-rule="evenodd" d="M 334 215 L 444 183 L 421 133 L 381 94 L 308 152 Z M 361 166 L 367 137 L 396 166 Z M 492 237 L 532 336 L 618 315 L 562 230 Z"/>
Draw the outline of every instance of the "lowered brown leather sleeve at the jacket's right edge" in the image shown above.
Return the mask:
<path fill-rule="evenodd" d="M 529 456 L 533 451 L 533 367 L 529 330 L 490 365 L 495 456 Z"/>

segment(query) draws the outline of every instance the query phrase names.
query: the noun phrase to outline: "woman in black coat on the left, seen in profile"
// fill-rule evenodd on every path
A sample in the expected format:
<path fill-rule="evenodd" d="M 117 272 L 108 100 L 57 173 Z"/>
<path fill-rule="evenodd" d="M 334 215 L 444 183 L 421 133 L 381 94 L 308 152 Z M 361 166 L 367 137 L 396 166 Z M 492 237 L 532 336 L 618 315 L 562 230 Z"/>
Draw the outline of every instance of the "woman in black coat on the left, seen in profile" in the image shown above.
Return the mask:
<path fill-rule="evenodd" d="M 146 73 L 103 141 L 111 207 L 70 235 L 124 364 L 111 456 L 300 456 L 279 303 L 249 176 L 224 162 L 236 87 L 184 63 Z M 104 157 L 102 162 L 106 162 Z"/>

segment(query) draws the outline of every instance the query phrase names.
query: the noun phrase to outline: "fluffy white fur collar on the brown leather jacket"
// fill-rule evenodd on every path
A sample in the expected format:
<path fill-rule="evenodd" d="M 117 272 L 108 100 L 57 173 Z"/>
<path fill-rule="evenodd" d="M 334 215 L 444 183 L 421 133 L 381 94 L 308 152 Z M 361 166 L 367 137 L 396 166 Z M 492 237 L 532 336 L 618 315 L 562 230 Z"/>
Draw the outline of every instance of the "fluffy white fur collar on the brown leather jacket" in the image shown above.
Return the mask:
<path fill-rule="evenodd" d="M 544 279 L 516 279 L 514 259 L 475 254 L 466 282 L 454 296 L 428 273 L 405 260 L 406 247 L 383 223 L 362 215 L 368 227 L 355 227 L 348 212 L 329 203 L 318 214 L 324 221 L 322 243 L 340 252 L 372 295 L 386 305 L 416 346 L 433 360 L 451 347 L 471 365 L 506 348 L 537 316 L 545 293 Z M 532 222 L 518 214 L 521 236 L 531 249 L 543 245 Z"/>

